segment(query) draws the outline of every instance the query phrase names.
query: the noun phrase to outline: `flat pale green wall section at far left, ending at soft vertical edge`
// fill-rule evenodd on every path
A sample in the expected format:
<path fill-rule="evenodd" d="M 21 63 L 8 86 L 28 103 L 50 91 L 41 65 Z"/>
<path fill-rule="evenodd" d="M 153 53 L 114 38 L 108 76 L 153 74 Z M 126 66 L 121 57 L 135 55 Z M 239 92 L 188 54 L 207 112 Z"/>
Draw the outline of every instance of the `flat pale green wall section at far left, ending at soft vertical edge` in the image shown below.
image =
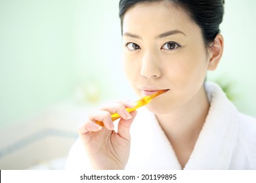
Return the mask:
<path fill-rule="evenodd" d="M 74 88 L 73 1 L 0 1 L 0 127 Z"/>

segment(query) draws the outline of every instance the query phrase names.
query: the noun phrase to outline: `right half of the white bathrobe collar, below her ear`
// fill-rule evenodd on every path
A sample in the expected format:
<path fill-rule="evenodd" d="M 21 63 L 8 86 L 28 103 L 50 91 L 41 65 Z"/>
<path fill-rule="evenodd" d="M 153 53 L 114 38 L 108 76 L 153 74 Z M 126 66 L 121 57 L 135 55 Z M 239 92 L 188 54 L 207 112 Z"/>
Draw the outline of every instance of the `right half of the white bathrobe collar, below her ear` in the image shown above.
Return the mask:
<path fill-rule="evenodd" d="M 238 139 L 239 112 L 217 84 L 206 83 L 205 91 L 211 106 L 184 169 L 228 169 Z"/>

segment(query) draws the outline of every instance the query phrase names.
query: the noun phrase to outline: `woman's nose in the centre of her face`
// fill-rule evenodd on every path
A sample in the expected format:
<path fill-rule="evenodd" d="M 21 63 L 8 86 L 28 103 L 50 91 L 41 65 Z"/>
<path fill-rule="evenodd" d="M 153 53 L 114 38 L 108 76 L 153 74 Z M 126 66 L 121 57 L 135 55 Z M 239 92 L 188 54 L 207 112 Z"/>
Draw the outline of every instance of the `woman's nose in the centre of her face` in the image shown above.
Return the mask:
<path fill-rule="evenodd" d="M 161 76 L 160 61 L 156 54 L 145 53 L 143 55 L 140 75 L 146 78 L 159 78 Z"/>

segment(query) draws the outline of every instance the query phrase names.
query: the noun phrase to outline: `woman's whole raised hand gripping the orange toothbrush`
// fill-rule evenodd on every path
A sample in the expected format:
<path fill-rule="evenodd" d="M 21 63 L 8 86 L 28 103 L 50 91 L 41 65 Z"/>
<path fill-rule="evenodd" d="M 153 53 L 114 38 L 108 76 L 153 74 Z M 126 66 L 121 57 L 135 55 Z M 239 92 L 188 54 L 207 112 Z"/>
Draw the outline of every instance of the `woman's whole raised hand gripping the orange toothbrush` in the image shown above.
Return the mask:
<path fill-rule="evenodd" d="M 130 127 L 137 111 L 127 112 L 133 108 L 127 101 L 117 101 L 102 105 L 100 110 L 92 112 L 89 119 L 78 129 L 79 136 L 91 160 L 94 169 L 124 169 L 130 154 Z M 118 113 L 121 118 L 117 133 L 111 114 Z M 95 124 L 103 122 L 105 127 Z"/>

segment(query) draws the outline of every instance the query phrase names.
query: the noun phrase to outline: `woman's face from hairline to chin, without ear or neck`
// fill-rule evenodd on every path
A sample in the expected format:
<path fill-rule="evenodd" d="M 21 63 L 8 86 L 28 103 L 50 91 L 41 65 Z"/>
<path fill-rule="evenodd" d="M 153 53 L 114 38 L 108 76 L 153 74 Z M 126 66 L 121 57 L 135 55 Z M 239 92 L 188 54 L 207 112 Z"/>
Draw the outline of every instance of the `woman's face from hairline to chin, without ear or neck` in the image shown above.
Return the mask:
<path fill-rule="evenodd" d="M 200 27 L 181 8 L 167 3 L 140 3 L 123 17 L 125 73 L 140 97 L 168 92 L 147 105 L 165 114 L 203 90 L 209 56 Z"/>

